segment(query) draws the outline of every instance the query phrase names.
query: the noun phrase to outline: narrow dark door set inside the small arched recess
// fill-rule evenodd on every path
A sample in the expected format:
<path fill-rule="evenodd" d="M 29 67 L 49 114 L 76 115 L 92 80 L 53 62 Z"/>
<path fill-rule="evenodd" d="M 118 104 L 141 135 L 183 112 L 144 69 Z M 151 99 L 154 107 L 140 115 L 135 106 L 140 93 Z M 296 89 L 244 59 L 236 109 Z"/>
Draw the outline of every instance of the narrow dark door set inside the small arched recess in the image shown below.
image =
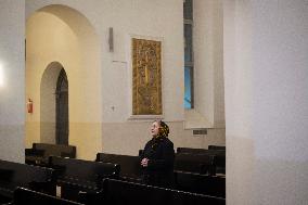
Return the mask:
<path fill-rule="evenodd" d="M 68 144 L 68 81 L 62 68 L 56 81 L 55 91 L 55 143 Z"/>

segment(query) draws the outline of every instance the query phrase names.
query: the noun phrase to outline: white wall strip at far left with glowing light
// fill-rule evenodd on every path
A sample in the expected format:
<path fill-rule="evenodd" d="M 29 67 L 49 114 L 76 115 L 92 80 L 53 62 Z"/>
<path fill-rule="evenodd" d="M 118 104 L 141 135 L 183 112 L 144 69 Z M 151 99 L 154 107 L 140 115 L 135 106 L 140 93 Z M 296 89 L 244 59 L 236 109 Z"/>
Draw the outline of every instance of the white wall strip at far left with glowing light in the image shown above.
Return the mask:
<path fill-rule="evenodd" d="M 0 1 L 0 158 L 24 162 L 25 2 Z"/>

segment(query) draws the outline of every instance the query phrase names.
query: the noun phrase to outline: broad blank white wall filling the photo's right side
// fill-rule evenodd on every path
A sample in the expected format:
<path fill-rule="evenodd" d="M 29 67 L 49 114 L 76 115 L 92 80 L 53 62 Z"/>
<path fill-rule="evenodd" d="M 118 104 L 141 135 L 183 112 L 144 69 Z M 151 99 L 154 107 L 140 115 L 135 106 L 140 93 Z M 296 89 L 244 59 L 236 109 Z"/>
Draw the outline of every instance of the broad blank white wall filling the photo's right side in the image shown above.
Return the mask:
<path fill-rule="evenodd" d="M 307 204 L 308 3 L 224 1 L 227 204 Z"/>

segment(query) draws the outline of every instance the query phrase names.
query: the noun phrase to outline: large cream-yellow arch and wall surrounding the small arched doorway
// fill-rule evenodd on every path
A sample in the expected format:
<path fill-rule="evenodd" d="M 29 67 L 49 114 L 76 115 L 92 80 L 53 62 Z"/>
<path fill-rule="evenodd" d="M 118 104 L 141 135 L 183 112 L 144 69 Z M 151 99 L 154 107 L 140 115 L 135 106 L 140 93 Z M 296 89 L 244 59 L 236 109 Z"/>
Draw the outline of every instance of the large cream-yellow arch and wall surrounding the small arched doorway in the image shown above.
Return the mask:
<path fill-rule="evenodd" d="M 67 5 L 46 5 L 27 17 L 26 99 L 34 100 L 36 111 L 44 106 L 40 84 L 52 69 L 54 74 L 51 72 L 50 75 L 55 75 L 59 69 L 53 66 L 57 67 L 61 62 L 69 81 L 69 110 L 74 111 L 68 111 L 68 143 L 80 145 L 77 153 L 80 158 L 92 158 L 102 145 L 101 125 L 98 123 L 102 116 L 100 44 L 89 18 Z M 51 67 L 51 71 L 46 69 Z M 41 115 L 34 112 L 26 116 L 26 146 L 41 141 Z"/>

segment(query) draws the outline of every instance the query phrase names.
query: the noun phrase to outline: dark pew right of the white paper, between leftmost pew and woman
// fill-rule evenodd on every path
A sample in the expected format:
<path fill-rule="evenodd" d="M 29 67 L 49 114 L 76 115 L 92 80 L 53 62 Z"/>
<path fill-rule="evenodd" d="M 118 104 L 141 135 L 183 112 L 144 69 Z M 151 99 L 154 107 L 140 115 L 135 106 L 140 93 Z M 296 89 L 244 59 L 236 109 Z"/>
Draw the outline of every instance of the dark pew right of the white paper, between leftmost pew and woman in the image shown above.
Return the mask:
<path fill-rule="evenodd" d="M 62 158 L 51 156 L 49 166 L 57 171 L 56 184 L 61 187 L 61 197 L 77 201 L 78 193 L 98 192 L 102 179 L 118 178 L 120 167 L 112 163 Z"/>

